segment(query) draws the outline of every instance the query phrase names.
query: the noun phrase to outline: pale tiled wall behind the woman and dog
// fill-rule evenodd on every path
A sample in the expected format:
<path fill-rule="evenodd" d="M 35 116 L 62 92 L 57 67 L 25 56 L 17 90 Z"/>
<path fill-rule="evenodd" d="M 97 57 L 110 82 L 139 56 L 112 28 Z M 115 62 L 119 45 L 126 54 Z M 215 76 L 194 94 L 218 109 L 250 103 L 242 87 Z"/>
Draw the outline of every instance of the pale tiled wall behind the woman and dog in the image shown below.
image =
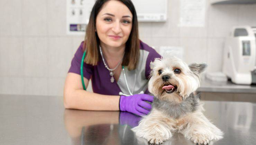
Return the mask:
<path fill-rule="evenodd" d="M 65 2 L 0 0 L 0 94 L 63 94 L 71 59 L 84 38 L 66 35 Z M 232 26 L 256 26 L 256 4 L 207 0 L 204 27 L 179 27 L 179 18 L 180 1 L 168 0 L 167 22 L 140 22 L 140 39 L 157 51 L 183 47 L 185 62 L 207 62 L 207 71 L 220 71 L 225 37 Z"/>

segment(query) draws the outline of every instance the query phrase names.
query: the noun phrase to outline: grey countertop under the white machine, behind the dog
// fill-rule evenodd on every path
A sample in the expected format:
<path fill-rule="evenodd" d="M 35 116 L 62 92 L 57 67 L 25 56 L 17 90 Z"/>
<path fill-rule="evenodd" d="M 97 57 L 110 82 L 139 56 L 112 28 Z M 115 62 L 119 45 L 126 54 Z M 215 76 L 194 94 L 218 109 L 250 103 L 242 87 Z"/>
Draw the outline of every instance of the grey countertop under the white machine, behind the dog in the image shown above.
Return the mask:
<path fill-rule="evenodd" d="M 252 93 L 256 94 L 256 85 L 237 85 L 228 81 L 212 81 L 203 78 L 198 92 L 214 92 L 214 93 Z"/>

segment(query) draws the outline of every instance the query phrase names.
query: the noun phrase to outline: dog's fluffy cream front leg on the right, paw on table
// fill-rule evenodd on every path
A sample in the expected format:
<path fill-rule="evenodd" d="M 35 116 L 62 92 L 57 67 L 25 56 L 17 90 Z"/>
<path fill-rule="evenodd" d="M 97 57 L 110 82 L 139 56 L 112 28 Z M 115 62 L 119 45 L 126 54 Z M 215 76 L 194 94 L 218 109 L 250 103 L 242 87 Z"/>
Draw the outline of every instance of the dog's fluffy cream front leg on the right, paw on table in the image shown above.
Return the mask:
<path fill-rule="evenodd" d="M 223 138 L 223 133 L 213 125 L 201 111 L 196 111 L 184 117 L 181 133 L 194 143 L 208 144 L 211 140 Z"/>

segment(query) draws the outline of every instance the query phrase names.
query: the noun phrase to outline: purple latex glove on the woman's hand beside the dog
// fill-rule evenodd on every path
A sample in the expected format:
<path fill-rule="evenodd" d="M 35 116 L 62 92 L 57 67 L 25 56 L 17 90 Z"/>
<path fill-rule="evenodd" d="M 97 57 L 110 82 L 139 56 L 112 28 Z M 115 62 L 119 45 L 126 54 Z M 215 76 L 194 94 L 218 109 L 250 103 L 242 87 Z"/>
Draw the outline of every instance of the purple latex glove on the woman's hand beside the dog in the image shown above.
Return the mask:
<path fill-rule="evenodd" d="M 147 94 L 120 96 L 119 108 L 121 111 L 127 111 L 139 116 L 144 116 L 151 110 L 151 104 L 145 101 L 153 102 L 153 100 L 154 97 Z"/>

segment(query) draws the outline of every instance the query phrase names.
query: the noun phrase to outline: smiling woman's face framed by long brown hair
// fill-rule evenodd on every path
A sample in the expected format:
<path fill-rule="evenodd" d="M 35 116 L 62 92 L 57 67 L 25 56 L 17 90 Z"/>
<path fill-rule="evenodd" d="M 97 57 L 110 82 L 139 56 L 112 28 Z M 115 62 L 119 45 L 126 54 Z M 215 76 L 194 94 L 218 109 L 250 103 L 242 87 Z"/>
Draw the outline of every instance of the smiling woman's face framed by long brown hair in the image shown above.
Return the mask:
<path fill-rule="evenodd" d="M 96 31 L 102 45 L 124 46 L 132 28 L 132 13 L 120 1 L 110 0 L 103 4 L 96 17 Z"/>

